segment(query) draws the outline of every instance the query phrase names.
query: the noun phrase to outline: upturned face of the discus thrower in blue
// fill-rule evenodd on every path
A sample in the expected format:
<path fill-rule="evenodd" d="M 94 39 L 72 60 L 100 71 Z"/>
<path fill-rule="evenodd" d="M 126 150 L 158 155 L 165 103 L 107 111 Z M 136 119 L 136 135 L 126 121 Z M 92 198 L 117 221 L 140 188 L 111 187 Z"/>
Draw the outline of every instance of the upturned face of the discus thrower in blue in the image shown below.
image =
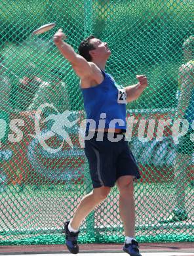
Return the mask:
<path fill-rule="evenodd" d="M 92 43 L 92 45 L 94 45 L 95 48 L 94 50 L 90 51 L 92 59 L 107 59 L 110 56 L 111 51 L 109 50 L 106 42 L 102 42 L 98 38 L 92 38 L 90 39 L 90 43 Z"/>

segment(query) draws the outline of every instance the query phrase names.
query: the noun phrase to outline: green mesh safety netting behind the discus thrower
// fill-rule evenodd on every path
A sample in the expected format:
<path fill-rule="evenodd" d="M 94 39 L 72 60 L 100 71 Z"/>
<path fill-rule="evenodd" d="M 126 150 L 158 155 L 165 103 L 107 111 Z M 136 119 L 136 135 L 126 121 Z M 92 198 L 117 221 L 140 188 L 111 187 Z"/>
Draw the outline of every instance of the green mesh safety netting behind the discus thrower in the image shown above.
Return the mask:
<path fill-rule="evenodd" d="M 64 221 L 92 189 L 79 79 L 52 41 L 59 28 L 76 51 L 90 34 L 106 41 L 107 72 L 120 85 L 147 75 L 149 87 L 127 105 L 142 174 L 136 236 L 194 241 L 193 11 L 190 0 L 1 1 L 0 245 L 64 244 Z M 53 30 L 31 36 L 50 22 Z M 115 187 L 81 225 L 79 242 L 123 242 L 118 200 Z M 168 222 L 172 213 L 178 221 Z"/>

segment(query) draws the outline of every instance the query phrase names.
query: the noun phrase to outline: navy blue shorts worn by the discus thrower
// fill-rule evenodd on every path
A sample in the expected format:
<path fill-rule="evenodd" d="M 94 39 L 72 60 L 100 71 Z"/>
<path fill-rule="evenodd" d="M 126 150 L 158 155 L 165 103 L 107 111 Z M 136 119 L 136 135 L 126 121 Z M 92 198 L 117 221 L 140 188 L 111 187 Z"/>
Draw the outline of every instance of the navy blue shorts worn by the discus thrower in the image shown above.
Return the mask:
<path fill-rule="evenodd" d="M 85 139 L 85 154 L 90 167 L 93 188 L 112 187 L 119 177 L 125 175 L 140 179 L 138 166 L 128 148 L 128 142 L 125 141 L 125 135 L 118 142 L 109 141 L 107 133 L 103 135 L 102 141 L 96 140 L 97 133 L 92 139 Z M 117 136 L 117 134 L 113 135 Z"/>

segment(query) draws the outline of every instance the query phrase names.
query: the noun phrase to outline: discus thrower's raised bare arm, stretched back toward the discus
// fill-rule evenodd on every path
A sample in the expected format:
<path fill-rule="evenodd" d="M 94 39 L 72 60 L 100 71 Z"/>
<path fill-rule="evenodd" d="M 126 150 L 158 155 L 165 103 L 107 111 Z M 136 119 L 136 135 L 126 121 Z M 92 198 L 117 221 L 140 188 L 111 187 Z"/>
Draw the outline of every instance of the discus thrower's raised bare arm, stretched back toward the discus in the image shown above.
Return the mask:
<path fill-rule="evenodd" d="M 54 34 L 53 41 L 58 47 L 60 53 L 71 63 L 73 70 L 75 73 L 81 78 L 91 77 L 92 76 L 92 64 L 87 62 L 83 56 L 75 53 L 73 47 L 68 45 L 68 43 L 64 42 L 63 39 L 66 38 L 66 35 L 62 32 L 62 30 L 58 30 Z"/>

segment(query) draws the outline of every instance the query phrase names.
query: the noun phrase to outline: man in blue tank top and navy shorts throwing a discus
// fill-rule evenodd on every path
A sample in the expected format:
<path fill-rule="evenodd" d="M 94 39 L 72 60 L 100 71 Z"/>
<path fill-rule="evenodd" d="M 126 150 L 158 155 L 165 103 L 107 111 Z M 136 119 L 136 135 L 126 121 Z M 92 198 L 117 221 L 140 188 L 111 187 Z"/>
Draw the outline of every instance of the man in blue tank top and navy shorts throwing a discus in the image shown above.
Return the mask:
<path fill-rule="evenodd" d="M 81 200 L 73 219 L 65 223 L 66 245 L 71 253 L 79 252 L 77 237 L 81 222 L 96 205 L 106 199 L 116 182 L 126 236 L 123 250 L 131 256 L 141 256 L 134 238 L 133 198 L 133 179 L 139 179 L 140 173 L 123 133 L 126 130 L 126 102 L 136 100 L 142 94 L 147 87 L 147 78 L 139 75 L 136 85 L 120 89 L 105 72 L 107 59 L 111 55 L 107 43 L 90 36 L 81 42 L 77 54 L 62 40 L 64 37 L 62 30 L 58 30 L 54 35 L 54 43 L 81 79 L 87 118 L 93 120 L 90 125 L 87 123 L 85 154 L 94 188 Z M 92 132 L 94 136 L 88 139 Z M 123 138 L 115 142 L 119 136 Z"/>

